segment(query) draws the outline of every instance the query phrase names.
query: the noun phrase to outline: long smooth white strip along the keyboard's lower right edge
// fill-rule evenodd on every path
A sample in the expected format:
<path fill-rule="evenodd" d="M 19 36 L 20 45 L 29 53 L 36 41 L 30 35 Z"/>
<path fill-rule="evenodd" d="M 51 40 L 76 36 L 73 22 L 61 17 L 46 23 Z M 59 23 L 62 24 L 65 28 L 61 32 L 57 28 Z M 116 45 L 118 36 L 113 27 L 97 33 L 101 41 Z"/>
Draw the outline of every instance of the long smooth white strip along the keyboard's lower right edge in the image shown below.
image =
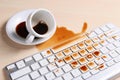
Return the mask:
<path fill-rule="evenodd" d="M 120 67 L 120 62 L 114 64 L 111 67 L 108 67 L 107 69 L 99 72 L 96 75 L 93 75 L 92 77 L 88 78 L 87 80 L 108 80 L 120 73 L 119 67 Z"/>

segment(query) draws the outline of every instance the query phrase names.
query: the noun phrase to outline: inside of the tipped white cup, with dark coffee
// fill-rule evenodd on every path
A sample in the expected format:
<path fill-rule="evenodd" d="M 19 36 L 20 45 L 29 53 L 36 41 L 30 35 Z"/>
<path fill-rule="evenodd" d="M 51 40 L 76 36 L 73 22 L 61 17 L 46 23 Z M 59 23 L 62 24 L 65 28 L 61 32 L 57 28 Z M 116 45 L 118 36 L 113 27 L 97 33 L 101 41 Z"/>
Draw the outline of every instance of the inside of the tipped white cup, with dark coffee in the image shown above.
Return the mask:
<path fill-rule="evenodd" d="M 42 32 L 44 33 L 44 34 L 38 33 L 39 35 L 50 34 L 55 28 L 55 21 L 52 14 L 45 10 L 36 11 L 32 16 L 31 22 L 32 22 L 33 29 L 34 27 L 37 26 L 36 30 L 38 30 L 38 32 L 41 31 L 41 33 Z M 45 26 L 47 26 L 47 28 L 45 28 Z"/>

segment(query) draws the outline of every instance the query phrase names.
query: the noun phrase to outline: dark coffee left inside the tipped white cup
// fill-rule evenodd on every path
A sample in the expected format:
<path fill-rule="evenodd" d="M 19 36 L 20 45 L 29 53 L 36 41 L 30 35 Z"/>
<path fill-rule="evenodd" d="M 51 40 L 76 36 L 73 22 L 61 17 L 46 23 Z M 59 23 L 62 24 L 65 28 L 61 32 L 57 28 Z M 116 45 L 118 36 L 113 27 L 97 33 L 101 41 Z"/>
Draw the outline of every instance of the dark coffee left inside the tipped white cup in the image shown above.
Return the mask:
<path fill-rule="evenodd" d="M 38 34 L 45 34 L 48 31 L 48 26 L 45 22 L 40 21 L 37 25 L 33 27 L 33 29 Z"/>

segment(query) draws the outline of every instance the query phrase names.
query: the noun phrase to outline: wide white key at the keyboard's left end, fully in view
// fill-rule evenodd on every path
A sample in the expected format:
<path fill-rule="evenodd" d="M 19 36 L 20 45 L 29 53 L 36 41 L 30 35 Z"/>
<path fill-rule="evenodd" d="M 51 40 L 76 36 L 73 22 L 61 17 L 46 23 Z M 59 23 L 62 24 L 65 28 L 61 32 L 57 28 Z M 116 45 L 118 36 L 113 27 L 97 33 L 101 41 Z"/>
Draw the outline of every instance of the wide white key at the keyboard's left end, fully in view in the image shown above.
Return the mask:
<path fill-rule="evenodd" d="M 11 73 L 10 76 L 11 76 L 12 79 L 16 79 L 16 78 L 21 77 L 21 76 L 23 76 L 23 75 L 25 75 L 29 72 L 31 72 L 30 67 L 25 67 L 23 69 L 20 69 L 16 72 Z"/>

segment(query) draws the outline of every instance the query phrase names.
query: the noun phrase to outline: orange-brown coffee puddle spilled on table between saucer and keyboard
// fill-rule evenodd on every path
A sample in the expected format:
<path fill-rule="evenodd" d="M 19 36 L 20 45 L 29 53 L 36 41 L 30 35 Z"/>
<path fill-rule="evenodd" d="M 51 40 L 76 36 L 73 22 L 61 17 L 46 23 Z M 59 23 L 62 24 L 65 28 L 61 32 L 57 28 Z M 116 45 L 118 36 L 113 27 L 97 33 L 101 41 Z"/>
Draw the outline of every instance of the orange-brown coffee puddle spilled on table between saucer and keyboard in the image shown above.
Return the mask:
<path fill-rule="evenodd" d="M 84 22 L 82 31 L 80 31 L 79 33 L 74 33 L 73 31 L 68 30 L 64 26 L 57 27 L 55 34 L 49 40 L 47 40 L 46 42 L 44 42 L 42 44 L 36 45 L 36 47 L 37 47 L 37 49 L 42 50 L 47 47 L 56 45 L 53 48 L 57 49 L 59 47 L 62 47 L 64 45 L 80 38 L 79 35 L 83 34 L 86 30 L 87 30 L 86 22 Z"/>

